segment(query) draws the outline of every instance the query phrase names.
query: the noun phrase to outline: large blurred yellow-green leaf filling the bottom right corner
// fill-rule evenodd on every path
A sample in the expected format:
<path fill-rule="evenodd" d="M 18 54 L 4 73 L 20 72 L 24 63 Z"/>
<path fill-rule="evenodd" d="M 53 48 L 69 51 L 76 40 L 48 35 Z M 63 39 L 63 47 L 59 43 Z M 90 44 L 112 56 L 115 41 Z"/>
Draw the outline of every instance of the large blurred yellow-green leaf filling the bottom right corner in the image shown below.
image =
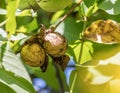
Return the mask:
<path fill-rule="evenodd" d="M 119 60 L 119 57 L 120 54 L 115 58 Z M 111 61 L 77 65 L 70 77 L 72 93 L 119 93 L 120 62 Z"/>

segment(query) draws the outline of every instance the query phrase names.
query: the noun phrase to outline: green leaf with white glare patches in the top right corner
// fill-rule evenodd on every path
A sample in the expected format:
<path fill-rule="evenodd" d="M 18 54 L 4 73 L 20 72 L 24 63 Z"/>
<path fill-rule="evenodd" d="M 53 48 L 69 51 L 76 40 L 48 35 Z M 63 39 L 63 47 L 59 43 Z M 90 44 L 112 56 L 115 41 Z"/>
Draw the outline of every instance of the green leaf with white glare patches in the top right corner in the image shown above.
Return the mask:
<path fill-rule="evenodd" d="M 120 14 L 120 0 L 103 0 L 99 3 L 99 8 L 112 15 Z"/>

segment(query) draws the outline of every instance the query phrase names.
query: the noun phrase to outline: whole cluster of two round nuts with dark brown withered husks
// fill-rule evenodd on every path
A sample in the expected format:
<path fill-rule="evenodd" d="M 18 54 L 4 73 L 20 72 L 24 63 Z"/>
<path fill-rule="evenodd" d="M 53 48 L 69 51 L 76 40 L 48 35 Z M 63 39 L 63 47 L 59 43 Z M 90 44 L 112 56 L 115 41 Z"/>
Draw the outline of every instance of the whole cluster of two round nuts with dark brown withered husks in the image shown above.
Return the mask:
<path fill-rule="evenodd" d="M 64 70 L 69 62 L 65 55 L 67 40 L 60 33 L 54 32 L 53 28 L 45 29 L 42 25 L 39 33 L 31 36 L 22 46 L 22 60 L 33 67 L 40 67 L 45 72 L 48 66 L 48 56 L 53 62 Z"/>

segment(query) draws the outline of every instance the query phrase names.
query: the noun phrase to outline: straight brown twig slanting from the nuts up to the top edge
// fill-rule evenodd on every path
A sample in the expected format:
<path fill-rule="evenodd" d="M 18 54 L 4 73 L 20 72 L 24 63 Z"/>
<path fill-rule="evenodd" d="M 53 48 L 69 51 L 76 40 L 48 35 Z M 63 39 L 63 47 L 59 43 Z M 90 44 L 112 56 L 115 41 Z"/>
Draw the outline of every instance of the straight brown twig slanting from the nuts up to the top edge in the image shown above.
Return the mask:
<path fill-rule="evenodd" d="M 54 26 L 54 30 L 73 12 L 73 10 L 80 5 L 82 0 L 79 0 L 77 4 L 75 4 L 61 19 L 60 21 Z"/>

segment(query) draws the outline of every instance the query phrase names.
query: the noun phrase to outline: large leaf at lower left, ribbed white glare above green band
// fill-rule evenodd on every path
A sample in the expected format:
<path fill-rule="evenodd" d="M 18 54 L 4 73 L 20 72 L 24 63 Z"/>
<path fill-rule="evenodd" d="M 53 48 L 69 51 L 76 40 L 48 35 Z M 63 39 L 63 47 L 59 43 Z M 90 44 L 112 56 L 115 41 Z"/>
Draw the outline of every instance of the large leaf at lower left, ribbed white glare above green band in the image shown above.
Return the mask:
<path fill-rule="evenodd" d="M 2 65 L 5 70 L 0 69 L 0 81 L 7 84 L 17 93 L 35 93 L 30 77 L 23 66 L 18 55 L 15 55 L 5 46 L 0 47 L 2 54 Z M 4 51 L 3 51 L 4 50 Z"/>

